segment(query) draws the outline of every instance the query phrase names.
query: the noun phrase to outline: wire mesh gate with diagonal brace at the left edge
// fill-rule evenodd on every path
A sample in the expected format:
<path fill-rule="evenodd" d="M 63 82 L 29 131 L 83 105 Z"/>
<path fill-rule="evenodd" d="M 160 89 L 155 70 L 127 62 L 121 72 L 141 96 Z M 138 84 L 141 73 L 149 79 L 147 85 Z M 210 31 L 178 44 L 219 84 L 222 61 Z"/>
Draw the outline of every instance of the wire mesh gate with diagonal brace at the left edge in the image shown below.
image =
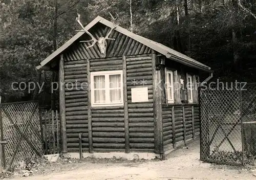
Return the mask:
<path fill-rule="evenodd" d="M 0 130 L 4 167 L 44 154 L 37 102 L 0 104 Z"/>

